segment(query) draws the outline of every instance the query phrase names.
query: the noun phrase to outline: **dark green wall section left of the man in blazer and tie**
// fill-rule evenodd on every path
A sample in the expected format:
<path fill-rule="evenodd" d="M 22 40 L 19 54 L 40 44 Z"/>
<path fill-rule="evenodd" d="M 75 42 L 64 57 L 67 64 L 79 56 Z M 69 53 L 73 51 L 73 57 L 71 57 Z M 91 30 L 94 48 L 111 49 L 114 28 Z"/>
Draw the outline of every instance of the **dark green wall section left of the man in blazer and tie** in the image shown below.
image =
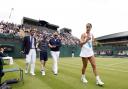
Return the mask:
<path fill-rule="evenodd" d="M 0 46 L 8 47 L 11 46 L 13 49 L 11 51 L 5 52 L 9 56 L 12 57 L 22 57 L 21 53 L 21 39 L 17 36 L 14 36 L 12 34 L 5 35 L 0 34 Z"/>

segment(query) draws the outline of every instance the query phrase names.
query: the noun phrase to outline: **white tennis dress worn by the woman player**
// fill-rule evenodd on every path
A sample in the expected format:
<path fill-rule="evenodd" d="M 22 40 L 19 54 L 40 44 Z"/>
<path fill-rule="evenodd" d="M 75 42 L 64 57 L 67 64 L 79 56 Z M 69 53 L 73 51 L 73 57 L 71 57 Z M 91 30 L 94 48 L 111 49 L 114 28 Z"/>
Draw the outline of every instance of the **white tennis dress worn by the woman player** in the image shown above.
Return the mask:
<path fill-rule="evenodd" d="M 92 36 L 93 35 L 90 34 L 91 39 L 87 43 L 83 44 L 83 46 L 81 47 L 80 57 L 91 57 L 94 55 Z"/>

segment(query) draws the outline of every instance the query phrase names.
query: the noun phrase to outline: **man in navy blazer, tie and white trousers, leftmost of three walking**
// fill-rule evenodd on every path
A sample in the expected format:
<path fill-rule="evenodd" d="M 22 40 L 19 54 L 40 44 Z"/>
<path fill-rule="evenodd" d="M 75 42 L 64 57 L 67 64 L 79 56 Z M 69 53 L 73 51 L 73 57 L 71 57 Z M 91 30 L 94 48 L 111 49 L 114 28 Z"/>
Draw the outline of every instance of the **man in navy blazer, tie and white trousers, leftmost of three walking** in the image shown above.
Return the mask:
<path fill-rule="evenodd" d="M 28 73 L 29 64 L 31 65 L 30 73 L 35 75 L 35 62 L 36 62 L 36 38 L 34 37 L 35 29 L 30 30 L 30 35 L 24 37 L 23 40 L 23 53 L 26 55 L 26 69 Z"/>

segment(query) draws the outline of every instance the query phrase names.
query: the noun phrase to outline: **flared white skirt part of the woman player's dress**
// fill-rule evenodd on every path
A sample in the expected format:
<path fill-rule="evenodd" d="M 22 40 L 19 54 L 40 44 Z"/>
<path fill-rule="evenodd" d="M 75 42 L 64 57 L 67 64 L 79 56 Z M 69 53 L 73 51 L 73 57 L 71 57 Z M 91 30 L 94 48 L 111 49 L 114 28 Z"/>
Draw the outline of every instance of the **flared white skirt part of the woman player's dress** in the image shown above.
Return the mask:
<path fill-rule="evenodd" d="M 85 47 L 81 48 L 80 57 L 91 57 L 91 56 L 94 56 L 93 49 L 85 48 Z"/>

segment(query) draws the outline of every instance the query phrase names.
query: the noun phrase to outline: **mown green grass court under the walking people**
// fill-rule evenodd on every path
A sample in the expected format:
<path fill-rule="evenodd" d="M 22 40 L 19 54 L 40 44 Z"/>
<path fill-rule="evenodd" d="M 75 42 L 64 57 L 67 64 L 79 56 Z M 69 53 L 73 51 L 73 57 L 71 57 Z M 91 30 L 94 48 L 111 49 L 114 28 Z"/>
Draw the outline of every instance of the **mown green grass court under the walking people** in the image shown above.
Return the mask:
<path fill-rule="evenodd" d="M 14 68 L 18 64 L 24 69 L 23 59 L 15 60 L 12 66 L 4 68 Z M 59 61 L 59 74 L 53 75 L 51 67 L 52 60 L 49 58 L 46 67 L 46 76 L 40 73 L 40 62 L 36 62 L 36 76 L 24 74 L 24 84 L 22 82 L 13 84 L 13 89 L 128 89 L 128 59 L 127 58 L 97 58 L 97 68 L 105 83 L 103 87 L 95 84 L 90 64 L 88 65 L 86 76 L 88 84 L 80 81 L 82 62 L 77 58 L 61 58 Z M 18 73 L 6 73 L 2 81 L 9 78 L 17 78 Z"/>

